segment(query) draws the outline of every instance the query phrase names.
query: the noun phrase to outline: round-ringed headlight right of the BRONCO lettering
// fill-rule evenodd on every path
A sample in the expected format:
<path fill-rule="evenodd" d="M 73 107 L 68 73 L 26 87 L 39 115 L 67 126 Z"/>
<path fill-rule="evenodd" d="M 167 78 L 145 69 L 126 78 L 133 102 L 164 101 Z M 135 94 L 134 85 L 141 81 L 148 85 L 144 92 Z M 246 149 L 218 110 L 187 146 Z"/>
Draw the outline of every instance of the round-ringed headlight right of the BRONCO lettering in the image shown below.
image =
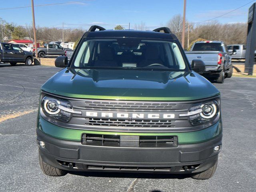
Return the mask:
<path fill-rule="evenodd" d="M 180 114 L 180 117 L 188 117 L 194 126 L 212 122 L 220 112 L 220 105 L 216 100 L 193 104 L 188 113 Z"/>

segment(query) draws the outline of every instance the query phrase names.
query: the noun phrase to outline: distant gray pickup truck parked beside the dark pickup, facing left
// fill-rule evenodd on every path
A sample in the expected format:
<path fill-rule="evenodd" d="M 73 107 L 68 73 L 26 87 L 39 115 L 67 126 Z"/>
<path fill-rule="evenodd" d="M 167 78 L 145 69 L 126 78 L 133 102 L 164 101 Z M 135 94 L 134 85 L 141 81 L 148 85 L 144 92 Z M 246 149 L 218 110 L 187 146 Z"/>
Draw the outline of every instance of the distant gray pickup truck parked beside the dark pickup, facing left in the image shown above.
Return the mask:
<path fill-rule="evenodd" d="M 44 58 L 45 55 L 64 55 L 65 49 L 58 44 L 44 44 L 44 48 L 38 48 L 38 57 Z"/>

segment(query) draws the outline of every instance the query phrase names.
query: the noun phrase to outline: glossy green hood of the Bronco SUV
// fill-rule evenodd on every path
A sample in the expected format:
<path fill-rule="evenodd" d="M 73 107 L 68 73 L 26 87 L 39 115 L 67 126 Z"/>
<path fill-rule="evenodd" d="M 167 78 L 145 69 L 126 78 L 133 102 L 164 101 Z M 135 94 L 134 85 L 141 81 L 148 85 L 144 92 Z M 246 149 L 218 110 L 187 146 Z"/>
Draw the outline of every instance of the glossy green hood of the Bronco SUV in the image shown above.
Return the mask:
<path fill-rule="evenodd" d="M 220 92 L 196 72 L 141 70 L 61 70 L 41 88 L 72 98 L 186 101 Z"/>

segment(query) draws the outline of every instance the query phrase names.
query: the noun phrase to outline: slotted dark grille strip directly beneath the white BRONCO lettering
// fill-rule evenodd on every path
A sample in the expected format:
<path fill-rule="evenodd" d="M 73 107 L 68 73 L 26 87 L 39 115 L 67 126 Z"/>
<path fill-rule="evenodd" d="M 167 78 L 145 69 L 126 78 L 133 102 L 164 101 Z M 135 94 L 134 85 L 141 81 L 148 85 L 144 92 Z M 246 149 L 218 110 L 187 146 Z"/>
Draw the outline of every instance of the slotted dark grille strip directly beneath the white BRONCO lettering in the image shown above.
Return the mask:
<path fill-rule="evenodd" d="M 108 126 L 108 127 L 142 127 L 142 128 L 171 128 L 175 120 L 126 120 L 126 119 L 105 119 L 85 118 L 85 125 Z"/>

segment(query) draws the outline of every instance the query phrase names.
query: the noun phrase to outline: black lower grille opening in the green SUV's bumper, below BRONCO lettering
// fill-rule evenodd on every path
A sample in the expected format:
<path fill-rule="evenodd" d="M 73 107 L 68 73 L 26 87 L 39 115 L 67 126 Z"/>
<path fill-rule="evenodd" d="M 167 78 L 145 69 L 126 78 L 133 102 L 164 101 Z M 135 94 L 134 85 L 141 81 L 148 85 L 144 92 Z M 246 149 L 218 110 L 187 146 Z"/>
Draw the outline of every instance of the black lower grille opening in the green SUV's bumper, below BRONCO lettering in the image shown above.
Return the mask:
<path fill-rule="evenodd" d="M 90 146 L 172 148 L 178 146 L 178 136 L 120 136 L 82 134 L 82 144 Z"/>

